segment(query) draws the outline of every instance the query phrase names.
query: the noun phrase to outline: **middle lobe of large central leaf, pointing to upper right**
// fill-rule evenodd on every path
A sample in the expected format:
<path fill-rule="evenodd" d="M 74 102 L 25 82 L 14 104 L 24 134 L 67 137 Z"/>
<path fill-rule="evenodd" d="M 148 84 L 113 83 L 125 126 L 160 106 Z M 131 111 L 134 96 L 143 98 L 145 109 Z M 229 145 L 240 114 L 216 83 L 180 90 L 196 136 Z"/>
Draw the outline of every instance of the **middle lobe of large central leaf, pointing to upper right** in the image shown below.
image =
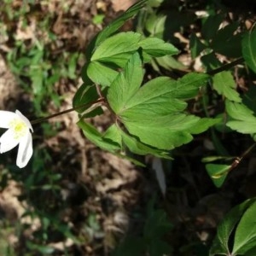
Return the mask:
<path fill-rule="evenodd" d="M 144 84 L 123 108 L 119 108 L 118 114 L 124 120 L 136 120 L 183 111 L 187 107 L 183 100 L 196 96 L 208 78 L 206 74 L 189 73 L 177 81 L 167 77 L 153 79 Z"/>

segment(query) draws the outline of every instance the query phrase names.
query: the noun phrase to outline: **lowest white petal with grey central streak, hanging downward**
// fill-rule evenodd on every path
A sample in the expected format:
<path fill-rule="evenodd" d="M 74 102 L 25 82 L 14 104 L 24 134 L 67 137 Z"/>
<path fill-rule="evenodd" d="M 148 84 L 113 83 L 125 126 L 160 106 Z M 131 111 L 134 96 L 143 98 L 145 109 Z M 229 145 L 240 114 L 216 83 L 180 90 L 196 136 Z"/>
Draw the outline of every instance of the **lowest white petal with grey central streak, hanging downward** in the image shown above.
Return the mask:
<path fill-rule="evenodd" d="M 25 167 L 28 161 L 31 159 L 32 154 L 32 134 L 29 130 L 27 130 L 26 135 L 20 140 L 16 165 L 20 168 Z"/>

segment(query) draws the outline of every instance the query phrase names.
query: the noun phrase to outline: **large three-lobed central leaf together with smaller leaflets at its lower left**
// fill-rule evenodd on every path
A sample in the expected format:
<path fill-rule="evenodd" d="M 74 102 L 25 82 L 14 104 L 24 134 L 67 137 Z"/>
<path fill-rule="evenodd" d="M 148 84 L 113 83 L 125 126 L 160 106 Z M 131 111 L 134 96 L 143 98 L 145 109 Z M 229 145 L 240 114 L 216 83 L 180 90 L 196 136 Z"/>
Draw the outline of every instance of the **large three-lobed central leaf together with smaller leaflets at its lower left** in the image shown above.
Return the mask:
<path fill-rule="evenodd" d="M 196 96 L 201 85 L 207 83 L 208 76 L 199 73 L 190 73 L 180 80 L 172 80 L 167 77 L 153 79 L 141 87 L 143 82 L 143 61 L 138 52 L 131 55 L 124 71 L 119 73 L 109 85 L 107 99 L 110 108 L 116 115 L 116 119 L 125 125 L 133 139 L 144 144 L 140 147 L 141 154 L 159 154 L 159 149 L 172 149 L 183 143 L 189 143 L 191 133 L 199 133 L 216 123 L 213 119 L 200 121 L 198 117 L 183 113 L 188 100 Z M 84 96 L 86 91 L 84 92 Z M 87 96 L 87 98 L 89 98 Z M 113 142 L 106 140 L 91 125 L 79 122 L 86 137 L 90 138 L 97 146 L 111 152 L 124 148 L 127 137 L 120 130 L 119 137 L 111 137 Z M 92 137 L 93 134 L 93 137 Z M 129 136 L 129 134 L 127 134 Z M 155 140 L 155 137 L 158 137 Z M 129 143 L 130 150 L 131 143 Z M 148 149 L 146 149 L 148 148 Z M 136 153 L 137 148 L 134 148 Z M 134 152 L 135 153 L 135 152 Z M 165 151 L 162 154 L 167 154 Z"/>

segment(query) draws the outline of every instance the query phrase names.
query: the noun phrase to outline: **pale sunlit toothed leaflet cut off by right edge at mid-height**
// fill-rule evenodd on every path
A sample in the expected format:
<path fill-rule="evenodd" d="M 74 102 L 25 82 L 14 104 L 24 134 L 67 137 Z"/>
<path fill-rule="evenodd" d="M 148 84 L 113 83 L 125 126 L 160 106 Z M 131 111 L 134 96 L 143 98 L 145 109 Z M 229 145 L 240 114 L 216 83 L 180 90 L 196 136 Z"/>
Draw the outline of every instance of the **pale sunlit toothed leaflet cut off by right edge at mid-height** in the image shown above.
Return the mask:
<path fill-rule="evenodd" d="M 245 105 L 236 102 L 226 101 L 226 111 L 232 119 L 227 123 L 232 130 L 245 134 L 256 133 L 256 117 L 253 111 Z"/>

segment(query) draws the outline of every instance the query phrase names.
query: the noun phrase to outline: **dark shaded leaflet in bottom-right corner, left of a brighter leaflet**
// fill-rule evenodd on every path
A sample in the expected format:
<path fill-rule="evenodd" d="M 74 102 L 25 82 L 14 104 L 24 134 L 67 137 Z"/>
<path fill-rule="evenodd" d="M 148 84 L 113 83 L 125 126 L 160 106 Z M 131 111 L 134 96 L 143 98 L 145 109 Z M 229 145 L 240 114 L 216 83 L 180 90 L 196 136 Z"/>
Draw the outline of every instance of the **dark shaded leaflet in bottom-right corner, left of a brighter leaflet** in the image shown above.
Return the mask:
<path fill-rule="evenodd" d="M 252 204 L 255 204 L 255 199 L 244 201 L 225 215 L 223 221 L 218 224 L 218 233 L 212 242 L 210 256 L 218 254 L 231 255 L 229 247 L 229 244 L 233 244 L 233 241 L 230 241 L 230 238 L 232 238 L 231 233 L 236 228 L 236 224 L 241 219 L 243 213 Z M 232 255 L 235 254 L 232 253 Z"/>

